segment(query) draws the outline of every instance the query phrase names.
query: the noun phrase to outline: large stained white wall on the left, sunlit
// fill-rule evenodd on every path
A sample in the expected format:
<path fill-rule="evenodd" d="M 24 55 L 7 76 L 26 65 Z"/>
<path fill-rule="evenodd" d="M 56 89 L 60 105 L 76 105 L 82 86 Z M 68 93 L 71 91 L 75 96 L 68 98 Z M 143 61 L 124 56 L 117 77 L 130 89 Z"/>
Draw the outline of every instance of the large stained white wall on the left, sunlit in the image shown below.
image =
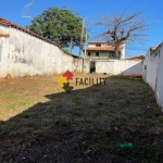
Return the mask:
<path fill-rule="evenodd" d="M 9 38 L 0 38 L 0 77 L 64 73 L 74 71 L 74 58 L 54 45 L 30 36 L 14 27 L 0 25 Z"/>

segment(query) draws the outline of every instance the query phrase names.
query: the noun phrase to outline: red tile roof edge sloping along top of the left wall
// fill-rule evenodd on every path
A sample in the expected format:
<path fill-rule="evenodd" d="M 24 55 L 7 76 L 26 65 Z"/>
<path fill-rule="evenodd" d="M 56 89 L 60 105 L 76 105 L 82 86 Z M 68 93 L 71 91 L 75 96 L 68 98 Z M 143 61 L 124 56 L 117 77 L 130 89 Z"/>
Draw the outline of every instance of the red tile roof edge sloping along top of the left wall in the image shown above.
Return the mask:
<path fill-rule="evenodd" d="M 53 41 L 51 41 L 51 40 L 49 40 L 49 39 L 47 39 L 47 38 L 45 38 L 45 37 L 38 35 L 38 34 L 36 34 L 36 33 L 33 33 L 32 30 L 25 29 L 25 28 L 23 28 L 23 27 L 16 25 L 16 24 L 13 24 L 13 23 L 11 23 L 11 22 L 4 20 L 4 18 L 1 18 L 1 17 L 0 17 L 0 24 L 4 24 L 4 25 L 7 25 L 7 26 L 12 26 L 12 27 L 14 27 L 14 28 L 17 28 L 18 30 L 22 30 L 22 32 L 24 32 L 24 33 L 26 33 L 26 34 L 28 34 L 28 35 L 32 35 L 32 36 L 34 36 L 34 37 L 37 37 L 37 38 L 39 38 L 39 39 L 41 39 L 41 40 L 45 40 L 45 41 L 47 41 L 47 42 L 49 42 L 49 43 L 51 43 L 51 45 L 54 45 L 54 46 L 57 46 L 57 47 L 59 47 L 59 48 L 61 47 L 61 46 L 58 45 L 57 42 L 53 42 Z"/>

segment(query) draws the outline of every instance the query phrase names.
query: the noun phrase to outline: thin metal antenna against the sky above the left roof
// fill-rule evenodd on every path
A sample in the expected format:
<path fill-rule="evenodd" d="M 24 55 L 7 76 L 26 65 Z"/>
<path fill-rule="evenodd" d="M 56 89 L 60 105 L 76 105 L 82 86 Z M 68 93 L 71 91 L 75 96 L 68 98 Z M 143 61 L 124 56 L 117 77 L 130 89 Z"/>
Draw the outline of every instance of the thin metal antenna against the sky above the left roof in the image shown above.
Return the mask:
<path fill-rule="evenodd" d="M 34 5 L 36 0 L 33 0 L 30 3 L 26 4 L 23 10 L 22 10 L 22 13 L 21 13 L 21 16 L 23 18 L 29 18 L 32 21 L 32 8 Z M 28 28 L 29 29 L 29 28 Z"/>

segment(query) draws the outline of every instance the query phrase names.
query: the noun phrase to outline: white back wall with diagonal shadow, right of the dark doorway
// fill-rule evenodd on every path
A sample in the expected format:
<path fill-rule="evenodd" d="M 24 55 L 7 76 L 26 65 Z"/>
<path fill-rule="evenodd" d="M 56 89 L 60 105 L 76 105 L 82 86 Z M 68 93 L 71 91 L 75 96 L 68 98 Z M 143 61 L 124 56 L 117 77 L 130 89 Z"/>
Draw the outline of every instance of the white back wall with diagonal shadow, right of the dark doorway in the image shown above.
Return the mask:
<path fill-rule="evenodd" d="M 135 60 L 96 61 L 96 73 L 108 73 L 111 75 L 124 75 L 124 76 L 142 76 L 142 61 L 135 61 Z"/>

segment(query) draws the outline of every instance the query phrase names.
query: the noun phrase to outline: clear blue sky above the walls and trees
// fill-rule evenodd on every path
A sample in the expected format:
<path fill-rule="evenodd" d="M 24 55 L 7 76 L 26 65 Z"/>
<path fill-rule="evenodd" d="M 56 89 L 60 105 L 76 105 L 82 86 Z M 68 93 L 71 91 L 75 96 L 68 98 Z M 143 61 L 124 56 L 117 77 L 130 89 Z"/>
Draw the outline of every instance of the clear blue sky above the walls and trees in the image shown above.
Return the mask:
<path fill-rule="evenodd" d="M 23 27 L 29 25 L 30 18 L 22 17 L 21 13 L 32 1 L 0 0 L 0 17 Z M 95 36 L 103 32 L 102 28 L 92 26 L 98 16 L 109 16 L 110 11 L 122 13 L 126 9 L 127 13 L 145 11 L 143 18 L 149 25 L 149 30 L 146 32 L 148 36 L 143 43 L 126 43 L 126 58 L 146 54 L 150 47 L 159 46 L 163 41 L 163 0 L 35 0 L 28 15 L 33 18 L 52 7 L 66 7 L 73 12 L 78 12 L 80 17 L 85 17 L 85 26 L 90 29 L 88 41 L 93 41 Z M 78 48 L 73 49 L 74 54 L 78 54 Z"/>

